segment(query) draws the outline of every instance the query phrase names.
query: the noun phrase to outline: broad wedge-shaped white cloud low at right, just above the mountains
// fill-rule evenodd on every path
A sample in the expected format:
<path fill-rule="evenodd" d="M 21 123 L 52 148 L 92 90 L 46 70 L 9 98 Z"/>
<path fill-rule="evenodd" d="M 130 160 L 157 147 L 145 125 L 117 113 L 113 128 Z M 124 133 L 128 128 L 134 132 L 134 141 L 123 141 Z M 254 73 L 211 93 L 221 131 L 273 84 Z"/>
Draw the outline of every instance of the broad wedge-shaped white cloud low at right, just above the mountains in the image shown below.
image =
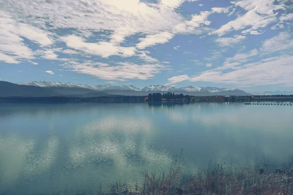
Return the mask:
<path fill-rule="evenodd" d="M 281 56 L 269 61 L 246 64 L 229 73 L 211 70 L 190 81 L 209 81 L 241 85 L 281 84 L 293 86 L 293 56 Z"/>

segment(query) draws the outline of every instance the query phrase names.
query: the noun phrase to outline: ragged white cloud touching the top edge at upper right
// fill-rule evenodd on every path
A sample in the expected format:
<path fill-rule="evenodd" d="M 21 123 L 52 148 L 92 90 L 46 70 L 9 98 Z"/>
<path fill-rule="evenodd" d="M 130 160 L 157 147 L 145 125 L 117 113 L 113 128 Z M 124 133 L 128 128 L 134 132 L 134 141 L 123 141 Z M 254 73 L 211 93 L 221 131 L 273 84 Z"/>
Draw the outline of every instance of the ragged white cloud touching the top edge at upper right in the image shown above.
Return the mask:
<path fill-rule="evenodd" d="M 242 7 L 247 12 L 235 20 L 229 21 L 222 25 L 218 30 L 210 34 L 218 34 L 223 36 L 232 30 L 242 30 L 251 27 L 242 33 L 250 33 L 258 28 L 264 28 L 268 24 L 277 21 L 277 13 L 275 10 L 285 9 L 283 4 L 275 4 L 274 0 L 240 0 L 231 1 L 236 6 Z"/>

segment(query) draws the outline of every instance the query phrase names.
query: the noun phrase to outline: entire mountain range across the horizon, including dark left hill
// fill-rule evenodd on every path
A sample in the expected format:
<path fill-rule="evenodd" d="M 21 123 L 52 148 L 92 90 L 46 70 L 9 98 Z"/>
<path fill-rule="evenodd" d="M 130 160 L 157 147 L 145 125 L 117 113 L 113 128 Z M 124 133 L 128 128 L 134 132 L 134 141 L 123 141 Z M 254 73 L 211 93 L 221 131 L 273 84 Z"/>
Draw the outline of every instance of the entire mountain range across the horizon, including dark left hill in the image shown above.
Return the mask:
<path fill-rule="evenodd" d="M 44 97 L 44 96 L 70 96 L 70 97 L 98 97 L 106 95 L 128 95 L 146 96 L 149 93 L 172 92 L 175 94 L 183 93 L 193 96 L 249 96 L 249 95 L 290 95 L 293 92 L 264 92 L 247 93 L 236 88 L 217 88 L 217 87 L 174 87 L 165 85 L 148 85 L 142 89 L 133 85 L 87 85 L 50 81 L 30 81 L 21 83 L 10 83 L 0 81 L 0 97 Z"/>

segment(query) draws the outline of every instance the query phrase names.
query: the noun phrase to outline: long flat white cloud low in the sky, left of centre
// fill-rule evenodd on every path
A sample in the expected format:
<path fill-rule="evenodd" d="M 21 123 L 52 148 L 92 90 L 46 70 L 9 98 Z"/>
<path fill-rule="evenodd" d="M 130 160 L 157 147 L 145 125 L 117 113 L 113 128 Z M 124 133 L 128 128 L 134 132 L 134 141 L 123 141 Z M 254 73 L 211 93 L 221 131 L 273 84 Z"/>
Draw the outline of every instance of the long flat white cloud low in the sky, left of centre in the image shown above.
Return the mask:
<path fill-rule="evenodd" d="M 167 70 L 168 66 L 161 64 L 143 64 L 137 65 L 130 62 L 118 62 L 112 65 L 101 62 L 86 61 L 83 63 L 77 61 L 69 61 L 63 64 L 65 68 L 69 68 L 77 73 L 92 75 L 105 80 L 128 79 L 150 79 L 162 70 Z"/>

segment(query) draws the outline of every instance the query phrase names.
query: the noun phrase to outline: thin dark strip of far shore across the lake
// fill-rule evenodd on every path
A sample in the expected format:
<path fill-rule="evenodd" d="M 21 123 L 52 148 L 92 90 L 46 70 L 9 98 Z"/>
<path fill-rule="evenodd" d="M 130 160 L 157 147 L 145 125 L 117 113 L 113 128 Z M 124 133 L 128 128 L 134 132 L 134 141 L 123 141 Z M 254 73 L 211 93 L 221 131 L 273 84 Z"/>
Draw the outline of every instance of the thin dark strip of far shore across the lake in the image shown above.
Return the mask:
<path fill-rule="evenodd" d="M 177 95 L 176 95 L 177 96 Z M 193 103 L 193 102 L 261 102 L 261 101 L 289 101 L 290 96 L 213 96 L 194 97 L 178 95 L 177 98 L 149 99 L 148 96 L 104 96 L 104 97 L 0 97 L 0 102 L 109 102 L 109 103 Z"/>

